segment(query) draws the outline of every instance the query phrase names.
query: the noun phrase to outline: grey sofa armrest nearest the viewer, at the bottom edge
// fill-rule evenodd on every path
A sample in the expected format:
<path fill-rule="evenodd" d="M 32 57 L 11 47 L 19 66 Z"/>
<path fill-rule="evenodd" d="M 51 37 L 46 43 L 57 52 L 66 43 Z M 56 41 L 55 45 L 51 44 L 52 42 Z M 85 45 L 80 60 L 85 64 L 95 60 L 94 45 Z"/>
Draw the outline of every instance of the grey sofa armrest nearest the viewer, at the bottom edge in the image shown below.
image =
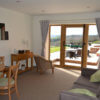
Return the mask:
<path fill-rule="evenodd" d="M 59 100 L 98 100 L 98 99 L 95 97 L 64 91 L 60 93 Z"/>

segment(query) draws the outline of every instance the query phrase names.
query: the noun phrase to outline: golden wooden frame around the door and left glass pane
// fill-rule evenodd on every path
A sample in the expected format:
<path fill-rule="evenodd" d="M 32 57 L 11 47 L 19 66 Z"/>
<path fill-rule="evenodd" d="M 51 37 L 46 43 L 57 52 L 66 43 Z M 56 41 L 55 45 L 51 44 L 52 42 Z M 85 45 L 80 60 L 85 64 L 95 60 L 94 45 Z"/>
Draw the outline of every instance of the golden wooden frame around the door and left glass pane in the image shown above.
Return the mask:
<path fill-rule="evenodd" d="M 49 60 L 50 60 L 50 32 L 51 26 L 61 26 L 61 44 L 60 44 L 60 65 L 55 65 L 57 67 L 68 67 L 81 69 L 87 65 L 87 48 L 88 48 L 88 28 L 90 24 L 50 24 L 49 25 Z M 82 48 L 82 58 L 81 58 L 81 67 L 65 65 L 65 40 L 66 40 L 66 27 L 83 27 L 83 48 Z M 56 59 L 55 61 L 59 61 Z"/>

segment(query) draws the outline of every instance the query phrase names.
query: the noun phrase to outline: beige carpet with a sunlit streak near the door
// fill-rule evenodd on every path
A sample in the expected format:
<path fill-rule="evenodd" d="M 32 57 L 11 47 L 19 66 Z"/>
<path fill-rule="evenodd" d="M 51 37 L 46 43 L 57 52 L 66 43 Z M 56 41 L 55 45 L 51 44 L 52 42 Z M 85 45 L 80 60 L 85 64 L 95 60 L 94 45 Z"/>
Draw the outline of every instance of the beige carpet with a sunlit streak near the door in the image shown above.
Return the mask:
<path fill-rule="evenodd" d="M 35 70 L 18 76 L 19 100 L 59 100 L 59 93 L 72 87 L 80 71 L 56 68 L 40 75 Z M 0 100 L 8 100 L 8 96 L 0 96 Z M 12 100 L 18 100 L 16 94 Z"/>

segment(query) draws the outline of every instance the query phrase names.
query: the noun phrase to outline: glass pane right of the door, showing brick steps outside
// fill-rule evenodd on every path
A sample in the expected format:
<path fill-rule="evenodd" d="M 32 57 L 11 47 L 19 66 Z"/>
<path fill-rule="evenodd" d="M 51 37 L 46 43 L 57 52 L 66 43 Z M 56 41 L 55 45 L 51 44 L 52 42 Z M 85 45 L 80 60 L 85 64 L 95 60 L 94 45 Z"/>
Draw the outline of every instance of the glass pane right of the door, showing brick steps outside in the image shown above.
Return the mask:
<path fill-rule="evenodd" d="M 96 25 L 89 25 L 87 67 L 98 68 L 100 58 L 100 39 Z"/>

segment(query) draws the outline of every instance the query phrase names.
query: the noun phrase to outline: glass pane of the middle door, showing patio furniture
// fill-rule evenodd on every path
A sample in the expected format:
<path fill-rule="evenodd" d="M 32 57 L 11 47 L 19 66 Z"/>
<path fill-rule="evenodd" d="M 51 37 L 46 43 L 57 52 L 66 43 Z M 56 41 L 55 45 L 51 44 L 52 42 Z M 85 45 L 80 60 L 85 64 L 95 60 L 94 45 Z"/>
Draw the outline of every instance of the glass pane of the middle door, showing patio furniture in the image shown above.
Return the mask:
<path fill-rule="evenodd" d="M 83 27 L 66 28 L 65 65 L 81 67 Z"/>

